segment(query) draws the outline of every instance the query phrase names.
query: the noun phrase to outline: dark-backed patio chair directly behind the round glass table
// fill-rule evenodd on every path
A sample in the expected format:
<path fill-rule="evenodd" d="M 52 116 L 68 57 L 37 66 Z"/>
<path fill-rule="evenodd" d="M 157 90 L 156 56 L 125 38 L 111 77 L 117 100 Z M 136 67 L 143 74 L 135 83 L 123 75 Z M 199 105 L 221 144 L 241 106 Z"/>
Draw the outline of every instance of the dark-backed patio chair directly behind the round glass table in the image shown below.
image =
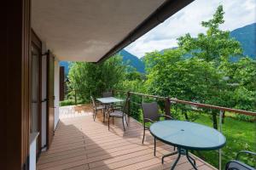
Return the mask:
<path fill-rule="evenodd" d="M 159 113 L 158 105 L 156 102 L 152 103 L 143 103 L 143 143 L 145 139 L 145 131 L 149 130 L 149 127 L 146 127 L 147 122 L 158 122 L 160 121 L 160 117 L 166 117 L 172 119 L 171 116 L 161 115 Z M 154 156 L 156 152 L 156 139 L 154 138 Z"/>

